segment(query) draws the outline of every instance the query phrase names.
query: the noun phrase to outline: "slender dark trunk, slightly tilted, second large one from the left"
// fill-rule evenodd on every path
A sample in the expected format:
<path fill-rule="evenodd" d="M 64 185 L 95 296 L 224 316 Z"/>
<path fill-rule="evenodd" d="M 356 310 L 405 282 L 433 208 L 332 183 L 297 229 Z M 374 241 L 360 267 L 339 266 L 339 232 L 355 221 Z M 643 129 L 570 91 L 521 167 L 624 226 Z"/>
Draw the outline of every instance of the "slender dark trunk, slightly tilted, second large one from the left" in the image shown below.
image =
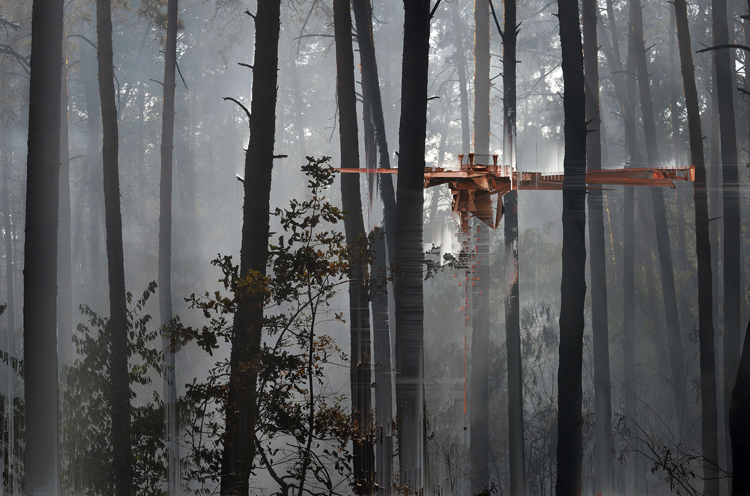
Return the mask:
<path fill-rule="evenodd" d="M 111 0 L 97 0 L 99 98 L 104 139 L 104 228 L 110 282 L 110 381 L 112 384 L 112 482 L 115 495 L 133 494 L 133 446 L 130 442 L 130 379 L 127 358 L 127 303 L 122 251 L 122 216 L 118 172 L 117 107 L 112 49 Z"/>

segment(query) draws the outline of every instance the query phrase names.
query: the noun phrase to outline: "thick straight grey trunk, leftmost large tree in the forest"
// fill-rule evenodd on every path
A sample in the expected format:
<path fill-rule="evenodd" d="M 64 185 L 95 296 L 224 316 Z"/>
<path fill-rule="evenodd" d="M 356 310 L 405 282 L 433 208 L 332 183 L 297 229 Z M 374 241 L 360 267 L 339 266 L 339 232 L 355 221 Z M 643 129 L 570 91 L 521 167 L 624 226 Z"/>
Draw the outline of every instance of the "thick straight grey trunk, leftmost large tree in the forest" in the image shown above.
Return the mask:
<path fill-rule="evenodd" d="M 31 7 L 23 348 L 26 494 L 58 488 L 57 273 L 63 1 Z M 54 282 L 54 279 L 52 279 Z M 32 345 L 33 343 L 33 345 Z"/>

